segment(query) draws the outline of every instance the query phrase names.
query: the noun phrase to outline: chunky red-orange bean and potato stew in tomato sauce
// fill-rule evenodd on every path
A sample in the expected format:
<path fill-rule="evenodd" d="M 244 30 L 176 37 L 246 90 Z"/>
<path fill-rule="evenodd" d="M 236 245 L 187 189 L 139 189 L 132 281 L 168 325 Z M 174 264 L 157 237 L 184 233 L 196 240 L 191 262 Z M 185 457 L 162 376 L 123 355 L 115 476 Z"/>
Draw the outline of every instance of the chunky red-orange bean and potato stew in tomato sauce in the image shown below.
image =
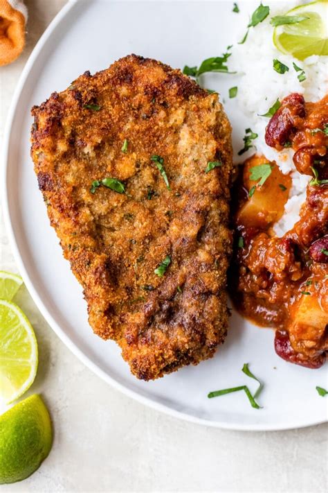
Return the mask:
<path fill-rule="evenodd" d="M 266 127 L 266 144 L 295 151 L 293 162 L 312 176 L 300 219 L 282 238 L 291 178 L 264 156 L 248 159 L 233 191 L 235 257 L 230 293 L 237 309 L 257 325 L 273 327 L 275 350 L 291 363 L 320 367 L 328 352 L 328 96 L 305 103 L 287 96 Z M 262 185 L 255 166 L 270 164 Z"/>

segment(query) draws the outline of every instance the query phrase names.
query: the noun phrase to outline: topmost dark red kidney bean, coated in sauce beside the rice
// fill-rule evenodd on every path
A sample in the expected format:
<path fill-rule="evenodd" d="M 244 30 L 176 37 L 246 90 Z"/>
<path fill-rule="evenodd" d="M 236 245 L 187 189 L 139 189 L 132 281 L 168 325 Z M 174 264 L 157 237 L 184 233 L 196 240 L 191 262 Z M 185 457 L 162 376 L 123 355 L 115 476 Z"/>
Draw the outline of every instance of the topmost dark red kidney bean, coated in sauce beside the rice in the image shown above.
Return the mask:
<path fill-rule="evenodd" d="M 289 94 L 282 100 L 279 110 L 268 122 L 265 132 L 268 146 L 281 148 L 286 144 L 293 130 L 295 116 L 305 116 L 305 101 L 297 92 Z"/>

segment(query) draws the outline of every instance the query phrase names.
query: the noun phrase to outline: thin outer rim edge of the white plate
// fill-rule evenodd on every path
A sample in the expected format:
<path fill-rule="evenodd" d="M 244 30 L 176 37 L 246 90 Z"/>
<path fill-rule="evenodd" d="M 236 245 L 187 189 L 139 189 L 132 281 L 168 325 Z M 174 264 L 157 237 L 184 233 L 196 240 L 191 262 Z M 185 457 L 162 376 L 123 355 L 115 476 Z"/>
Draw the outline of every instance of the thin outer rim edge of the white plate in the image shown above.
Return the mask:
<path fill-rule="evenodd" d="M 40 313 L 42 313 L 42 316 L 44 317 L 48 325 L 60 338 L 60 340 L 62 340 L 64 345 L 66 345 L 66 347 L 68 347 L 68 349 L 71 352 L 73 352 L 73 354 L 84 365 L 86 365 L 86 367 L 89 367 L 89 369 L 93 373 L 98 375 L 98 377 L 100 377 L 103 381 L 109 383 L 116 390 L 122 392 L 122 394 L 125 394 L 128 397 L 135 399 L 136 401 L 140 402 L 140 404 L 144 404 L 145 406 L 148 406 L 154 410 L 160 411 L 161 413 L 165 413 L 166 415 L 179 418 L 180 420 L 183 421 L 192 422 L 194 424 L 201 424 L 203 426 L 210 426 L 212 428 L 227 429 L 234 431 L 284 431 L 289 429 L 306 428 L 308 426 L 314 426 L 317 424 L 322 424 L 327 422 L 328 419 L 313 420 L 313 421 L 300 420 L 299 422 L 294 422 L 294 424 L 290 424 L 290 423 L 286 424 L 283 422 L 281 424 L 237 424 L 237 423 L 230 424 L 225 421 L 206 420 L 201 417 L 196 417 L 187 413 L 183 413 L 179 410 L 170 408 L 169 406 L 166 406 L 165 404 L 161 404 L 160 402 L 155 401 L 150 397 L 145 397 L 141 395 L 140 393 L 138 393 L 138 391 L 127 388 L 124 384 L 116 381 L 116 379 L 114 377 L 111 377 L 109 373 L 105 372 L 100 367 L 98 367 L 98 365 L 93 363 L 93 361 L 91 361 L 89 356 L 86 356 L 86 354 L 84 354 L 84 352 L 82 352 L 82 350 L 79 349 L 77 345 L 75 345 L 73 340 L 71 340 L 71 338 L 69 338 L 69 336 L 66 335 L 64 329 L 62 329 L 62 327 L 60 327 L 60 325 L 57 324 L 57 322 L 53 319 L 51 313 L 49 313 L 46 307 L 44 306 L 41 298 L 39 297 L 39 293 L 37 292 L 37 289 L 34 287 L 33 282 L 31 281 L 30 276 L 28 275 L 28 271 L 24 266 L 24 262 L 21 258 L 19 247 L 17 245 L 17 241 L 15 238 L 14 227 L 12 225 L 12 221 L 10 217 L 10 207 L 8 201 L 8 188 L 7 188 L 10 133 L 11 133 L 12 124 L 14 122 L 17 113 L 17 103 L 19 101 L 19 97 L 21 96 L 21 92 L 24 89 L 24 85 L 30 74 L 30 71 L 33 69 L 35 60 L 37 60 L 39 53 L 42 52 L 42 49 L 44 47 L 44 44 L 46 44 L 48 37 L 50 37 L 50 35 L 53 33 L 53 31 L 55 31 L 57 26 L 60 25 L 64 17 L 66 17 L 66 15 L 68 15 L 69 12 L 71 12 L 72 8 L 78 5 L 78 3 L 79 3 L 78 0 L 69 0 L 66 3 L 66 5 L 60 10 L 60 12 L 57 13 L 57 15 L 48 25 L 42 36 L 39 38 L 33 51 L 30 53 L 30 56 L 24 66 L 24 69 L 21 71 L 21 76 L 19 77 L 18 83 L 15 88 L 15 92 L 12 96 L 12 101 L 10 103 L 10 108 L 8 111 L 8 116 L 6 119 L 5 128 L 3 132 L 3 150 L 1 152 L 1 161 L 3 164 L 1 169 L 1 196 L 2 196 L 1 202 L 3 209 L 3 220 L 4 220 L 4 225 L 6 227 L 6 233 L 8 234 L 10 248 L 14 255 L 15 262 L 19 269 L 19 273 L 21 274 L 21 277 L 24 280 L 24 284 L 26 285 L 26 288 L 28 289 L 30 296 L 35 302 L 37 309 L 40 311 Z"/>

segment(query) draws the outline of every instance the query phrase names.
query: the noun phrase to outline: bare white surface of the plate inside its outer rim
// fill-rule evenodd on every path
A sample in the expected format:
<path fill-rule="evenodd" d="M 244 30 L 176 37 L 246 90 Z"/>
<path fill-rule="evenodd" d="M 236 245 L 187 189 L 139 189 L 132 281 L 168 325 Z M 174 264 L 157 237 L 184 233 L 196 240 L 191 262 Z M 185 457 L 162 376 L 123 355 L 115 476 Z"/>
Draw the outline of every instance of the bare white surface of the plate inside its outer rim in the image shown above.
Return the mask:
<path fill-rule="evenodd" d="M 82 289 L 62 257 L 51 229 L 30 159 L 30 107 L 71 80 L 137 53 L 172 67 L 196 65 L 220 55 L 239 39 L 248 17 L 232 12 L 232 1 L 69 2 L 53 21 L 26 64 L 12 104 L 4 142 L 3 206 L 8 233 L 26 286 L 48 323 L 91 369 L 116 388 L 149 406 L 202 424 L 230 429 L 275 430 L 327 420 L 328 399 L 316 386 L 327 386 L 325 367 L 307 370 L 275 355 L 273 331 L 258 329 L 233 313 L 230 333 L 215 358 L 185 367 L 158 381 L 131 376 L 120 350 L 94 336 L 86 318 Z M 244 12 L 243 12 L 244 10 Z M 210 76 L 208 87 L 227 98 L 235 76 Z M 226 110 L 240 148 L 247 122 L 233 101 Z M 265 383 L 263 408 L 251 408 L 244 393 L 208 399 L 210 390 L 256 382 L 241 372 L 244 363 Z"/>

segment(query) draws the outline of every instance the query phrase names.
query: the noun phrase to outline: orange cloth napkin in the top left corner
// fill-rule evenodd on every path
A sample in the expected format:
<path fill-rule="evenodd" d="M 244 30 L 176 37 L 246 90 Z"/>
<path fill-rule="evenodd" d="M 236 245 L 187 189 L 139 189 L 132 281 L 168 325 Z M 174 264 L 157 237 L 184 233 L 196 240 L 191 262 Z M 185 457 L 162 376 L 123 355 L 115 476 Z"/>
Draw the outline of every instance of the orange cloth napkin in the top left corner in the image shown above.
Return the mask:
<path fill-rule="evenodd" d="M 0 0 L 0 65 L 13 62 L 25 44 L 27 9 L 20 0 Z"/>

